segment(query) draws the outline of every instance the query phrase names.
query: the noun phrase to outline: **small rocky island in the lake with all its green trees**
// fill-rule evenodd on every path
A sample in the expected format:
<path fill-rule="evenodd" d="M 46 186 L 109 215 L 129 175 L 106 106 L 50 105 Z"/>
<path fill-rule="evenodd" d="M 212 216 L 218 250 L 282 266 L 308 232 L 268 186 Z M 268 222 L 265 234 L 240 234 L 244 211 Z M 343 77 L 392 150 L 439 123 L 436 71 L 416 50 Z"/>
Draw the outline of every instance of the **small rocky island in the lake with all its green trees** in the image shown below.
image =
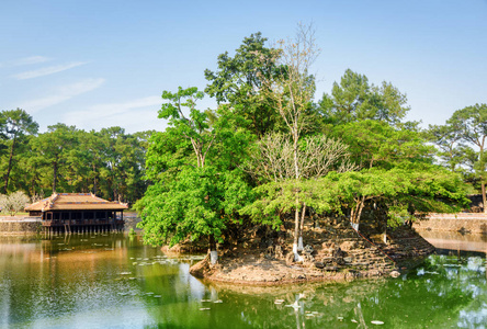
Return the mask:
<path fill-rule="evenodd" d="M 252 34 L 219 56 L 204 92 L 163 91 L 169 127 L 150 139 L 154 184 L 135 204 L 145 241 L 208 250 L 191 273 L 242 284 L 396 276 L 432 253 L 412 224 L 467 208 L 473 190 L 461 157 L 431 144 L 463 147 L 487 106 L 422 132 L 396 87 L 350 69 L 314 103 L 313 30 L 265 42 Z M 205 93 L 216 110 L 197 109 Z"/>

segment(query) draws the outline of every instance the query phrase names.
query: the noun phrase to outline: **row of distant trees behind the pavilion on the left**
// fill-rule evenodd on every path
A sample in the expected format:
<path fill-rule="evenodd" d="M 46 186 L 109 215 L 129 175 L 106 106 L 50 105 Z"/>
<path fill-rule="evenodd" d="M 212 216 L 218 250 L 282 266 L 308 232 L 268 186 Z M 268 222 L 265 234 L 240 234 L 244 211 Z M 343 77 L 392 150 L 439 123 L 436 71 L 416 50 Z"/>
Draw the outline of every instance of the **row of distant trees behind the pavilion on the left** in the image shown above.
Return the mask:
<path fill-rule="evenodd" d="M 26 111 L 0 112 L 0 194 L 29 196 L 92 192 L 135 203 L 144 195 L 145 156 L 151 132 L 127 134 L 121 127 L 86 132 L 56 124 L 38 134 Z"/>

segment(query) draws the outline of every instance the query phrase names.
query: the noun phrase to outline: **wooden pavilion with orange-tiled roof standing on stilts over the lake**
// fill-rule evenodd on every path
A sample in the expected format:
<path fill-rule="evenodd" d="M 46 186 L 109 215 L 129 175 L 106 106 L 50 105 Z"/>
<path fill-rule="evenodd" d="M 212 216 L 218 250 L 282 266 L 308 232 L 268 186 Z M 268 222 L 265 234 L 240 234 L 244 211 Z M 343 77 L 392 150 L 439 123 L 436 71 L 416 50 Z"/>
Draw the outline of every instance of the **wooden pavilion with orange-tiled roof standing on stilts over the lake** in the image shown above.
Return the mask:
<path fill-rule="evenodd" d="M 118 231 L 124 228 L 127 204 L 110 202 L 92 193 L 55 193 L 25 207 L 39 216 L 46 232 Z"/>

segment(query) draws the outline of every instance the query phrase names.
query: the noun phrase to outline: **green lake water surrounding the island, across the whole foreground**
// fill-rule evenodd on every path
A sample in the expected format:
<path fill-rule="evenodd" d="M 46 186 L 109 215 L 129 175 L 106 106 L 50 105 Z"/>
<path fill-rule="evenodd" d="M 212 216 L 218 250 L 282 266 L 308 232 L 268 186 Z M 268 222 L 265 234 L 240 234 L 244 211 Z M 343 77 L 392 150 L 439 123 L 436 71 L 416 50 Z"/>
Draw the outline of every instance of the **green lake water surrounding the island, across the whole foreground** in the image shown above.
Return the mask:
<path fill-rule="evenodd" d="M 138 236 L 0 237 L 0 328 L 486 328 L 485 252 L 441 252 L 397 279 L 251 287 Z"/>

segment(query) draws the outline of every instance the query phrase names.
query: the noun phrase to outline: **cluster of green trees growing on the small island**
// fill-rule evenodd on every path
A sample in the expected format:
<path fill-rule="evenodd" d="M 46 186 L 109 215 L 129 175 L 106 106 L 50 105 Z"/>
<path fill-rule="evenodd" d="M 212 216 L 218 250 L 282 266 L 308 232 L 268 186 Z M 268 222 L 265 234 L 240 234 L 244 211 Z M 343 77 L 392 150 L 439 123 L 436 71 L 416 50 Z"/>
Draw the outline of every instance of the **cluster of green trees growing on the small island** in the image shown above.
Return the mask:
<path fill-rule="evenodd" d="M 214 250 L 246 223 L 278 228 L 293 218 L 298 259 L 305 214 L 339 214 L 359 229 L 365 206 L 394 226 L 468 205 L 465 175 L 437 163 L 442 154 L 405 121 L 406 94 L 390 82 L 348 69 L 314 101 L 318 55 L 306 26 L 272 47 L 256 33 L 218 56 L 204 92 L 162 93 L 169 127 L 149 140 L 152 184 L 136 204 L 147 242 L 207 237 Z M 205 95 L 217 109 L 197 110 Z"/>

